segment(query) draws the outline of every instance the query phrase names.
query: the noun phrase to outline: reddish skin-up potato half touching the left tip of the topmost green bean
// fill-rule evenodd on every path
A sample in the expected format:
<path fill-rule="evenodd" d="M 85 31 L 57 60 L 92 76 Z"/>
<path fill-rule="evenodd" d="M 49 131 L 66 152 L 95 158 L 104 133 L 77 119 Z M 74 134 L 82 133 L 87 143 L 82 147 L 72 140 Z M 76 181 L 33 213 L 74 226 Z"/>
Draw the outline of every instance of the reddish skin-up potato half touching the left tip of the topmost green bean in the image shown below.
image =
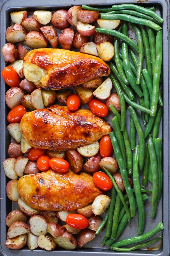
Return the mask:
<path fill-rule="evenodd" d="M 90 10 L 78 10 L 77 18 L 82 22 L 93 23 L 99 17 L 99 12 Z"/>

